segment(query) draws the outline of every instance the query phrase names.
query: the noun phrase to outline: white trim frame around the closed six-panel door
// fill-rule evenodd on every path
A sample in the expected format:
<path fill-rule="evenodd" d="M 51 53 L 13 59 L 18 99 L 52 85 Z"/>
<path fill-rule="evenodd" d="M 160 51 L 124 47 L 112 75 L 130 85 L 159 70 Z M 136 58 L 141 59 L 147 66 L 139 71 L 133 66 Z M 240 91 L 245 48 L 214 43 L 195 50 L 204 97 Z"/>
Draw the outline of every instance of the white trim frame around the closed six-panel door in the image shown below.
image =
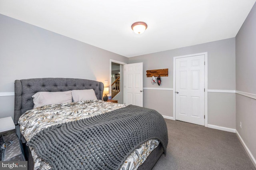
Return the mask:
<path fill-rule="evenodd" d="M 177 58 L 183 58 L 183 57 L 193 57 L 196 55 L 204 55 L 204 87 L 205 87 L 205 92 L 204 92 L 204 126 L 208 127 L 208 52 L 204 53 L 195 53 L 195 54 L 189 54 L 189 55 L 182 55 L 182 56 L 177 56 L 173 57 L 173 119 L 176 120 L 176 59 Z"/>

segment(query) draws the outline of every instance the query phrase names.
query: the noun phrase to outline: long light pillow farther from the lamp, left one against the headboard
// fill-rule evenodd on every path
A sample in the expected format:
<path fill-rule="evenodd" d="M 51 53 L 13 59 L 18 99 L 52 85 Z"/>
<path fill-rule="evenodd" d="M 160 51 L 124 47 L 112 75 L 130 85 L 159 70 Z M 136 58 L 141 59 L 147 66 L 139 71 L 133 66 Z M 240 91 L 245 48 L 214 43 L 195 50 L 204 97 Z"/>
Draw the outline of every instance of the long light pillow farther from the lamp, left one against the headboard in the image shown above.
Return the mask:
<path fill-rule="evenodd" d="M 58 103 L 71 103 L 71 91 L 38 92 L 33 96 L 34 108 Z"/>

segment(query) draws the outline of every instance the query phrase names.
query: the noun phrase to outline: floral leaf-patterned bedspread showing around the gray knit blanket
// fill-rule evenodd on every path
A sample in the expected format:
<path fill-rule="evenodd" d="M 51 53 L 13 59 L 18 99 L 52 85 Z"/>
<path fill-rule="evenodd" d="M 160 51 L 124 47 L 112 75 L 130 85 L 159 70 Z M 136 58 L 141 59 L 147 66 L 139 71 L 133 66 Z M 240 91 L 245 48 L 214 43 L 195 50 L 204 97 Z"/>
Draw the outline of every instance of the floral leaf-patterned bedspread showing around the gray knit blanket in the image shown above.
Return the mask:
<path fill-rule="evenodd" d="M 20 132 L 29 141 L 40 130 L 70 121 L 86 119 L 125 107 L 125 105 L 104 102 L 101 100 L 80 101 L 76 103 L 62 103 L 47 105 L 31 109 L 19 119 Z M 136 170 L 159 145 L 159 141 L 151 139 L 141 144 L 124 162 L 121 170 Z M 51 167 L 40 160 L 33 148 L 30 148 L 34 159 L 34 170 L 49 170 Z"/>

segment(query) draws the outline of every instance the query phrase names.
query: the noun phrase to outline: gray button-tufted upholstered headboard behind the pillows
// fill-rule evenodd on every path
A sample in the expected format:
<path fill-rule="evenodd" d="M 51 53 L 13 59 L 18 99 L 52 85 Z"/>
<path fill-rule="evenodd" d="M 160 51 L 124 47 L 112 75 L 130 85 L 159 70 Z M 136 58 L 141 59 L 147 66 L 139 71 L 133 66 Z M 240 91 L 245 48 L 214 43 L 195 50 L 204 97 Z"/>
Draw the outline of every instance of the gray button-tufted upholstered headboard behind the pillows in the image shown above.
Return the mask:
<path fill-rule="evenodd" d="M 32 95 L 40 91 L 69 91 L 94 89 L 98 100 L 102 100 L 104 85 L 102 82 L 72 78 L 37 78 L 15 80 L 14 124 L 18 125 L 20 116 L 33 109 Z"/>

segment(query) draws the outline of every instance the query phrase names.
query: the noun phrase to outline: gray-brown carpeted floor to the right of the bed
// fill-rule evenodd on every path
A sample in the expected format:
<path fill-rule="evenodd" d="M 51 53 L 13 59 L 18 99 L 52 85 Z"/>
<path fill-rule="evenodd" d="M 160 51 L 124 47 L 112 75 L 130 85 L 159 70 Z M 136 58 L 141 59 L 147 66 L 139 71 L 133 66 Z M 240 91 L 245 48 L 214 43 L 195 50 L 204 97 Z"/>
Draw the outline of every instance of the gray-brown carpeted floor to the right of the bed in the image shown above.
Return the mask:
<path fill-rule="evenodd" d="M 153 170 L 256 170 L 235 133 L 165 121 L 167 154 Z"/>

